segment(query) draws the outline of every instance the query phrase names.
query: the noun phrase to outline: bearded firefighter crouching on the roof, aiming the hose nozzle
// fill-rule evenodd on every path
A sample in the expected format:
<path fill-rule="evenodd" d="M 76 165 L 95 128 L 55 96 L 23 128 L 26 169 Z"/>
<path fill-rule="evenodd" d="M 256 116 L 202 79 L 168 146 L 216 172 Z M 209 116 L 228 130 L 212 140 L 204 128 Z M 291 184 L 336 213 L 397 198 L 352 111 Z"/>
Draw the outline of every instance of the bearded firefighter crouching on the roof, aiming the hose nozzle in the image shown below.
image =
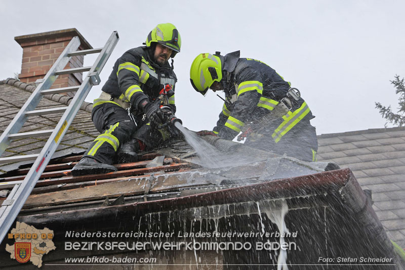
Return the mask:
<path fill-rule="evenodd" d="M 158 24 L 144 45 L 116 60 L 100 97 L 94 100 L 92 119 L 101 134 L 74 166 L 73 175 L 116 171 L 112 166 L 116 156 L 134 161 L 140 150 L 167 139 L 159 126 L 172 124 L 176 112 L 177 78 L 173 60 L 171 65 L 168 60 L 180 52 L 179 31 L 171 23 Z"/>

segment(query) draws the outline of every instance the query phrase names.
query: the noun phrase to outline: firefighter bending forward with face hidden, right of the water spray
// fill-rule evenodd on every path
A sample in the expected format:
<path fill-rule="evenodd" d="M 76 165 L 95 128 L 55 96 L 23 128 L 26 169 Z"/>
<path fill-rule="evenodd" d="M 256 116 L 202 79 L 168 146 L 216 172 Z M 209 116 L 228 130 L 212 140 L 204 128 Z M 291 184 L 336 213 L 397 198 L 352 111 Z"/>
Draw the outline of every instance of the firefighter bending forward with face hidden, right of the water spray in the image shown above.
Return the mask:
<path fill-rule="evenodd" d="M 316 161 L 314 118 L 297 89 L 270 66 L 240 52 L 222 56 L 199 54 L 191 64 L 190 81 L 195 91 L 225 92 L 225 103 L 212 133 L 279 155 Z M 202 131 L 199 134 L 209 134 Z"/>

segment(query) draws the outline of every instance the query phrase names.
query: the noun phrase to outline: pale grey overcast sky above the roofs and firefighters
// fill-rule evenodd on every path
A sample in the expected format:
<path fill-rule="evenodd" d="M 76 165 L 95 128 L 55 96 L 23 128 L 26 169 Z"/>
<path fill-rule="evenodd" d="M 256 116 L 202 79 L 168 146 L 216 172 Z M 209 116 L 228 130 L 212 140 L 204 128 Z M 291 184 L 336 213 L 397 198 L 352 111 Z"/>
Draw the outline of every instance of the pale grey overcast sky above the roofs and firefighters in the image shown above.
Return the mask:
<path fill-rule="evenodd" d="M 398 107 L 390 80 L 405 76 L 405 1 L 17 1 L 2 0 L 0 80 L 21 71 L 14 36 L 76 28 L 94 47 L 113 30 L 120 40 L 105 65 L 141 46 L 158 23 L 178 28 L 175 57 L 177 116 L 192 130 L 212 130 L 223 102 L 204 98 L 189 82 L 199 53 L 240 50 L 259 59 L 301 91 L 317 134 L 384 127 L 375 101 Z M 86 59 L 91 65 L 94 59 Z M 93 87 L 92 102 L 101 91 Z M 222 94 L 223 95 L 223 94 Z M 391 127 L 391 126 L 389 126 Z"/>

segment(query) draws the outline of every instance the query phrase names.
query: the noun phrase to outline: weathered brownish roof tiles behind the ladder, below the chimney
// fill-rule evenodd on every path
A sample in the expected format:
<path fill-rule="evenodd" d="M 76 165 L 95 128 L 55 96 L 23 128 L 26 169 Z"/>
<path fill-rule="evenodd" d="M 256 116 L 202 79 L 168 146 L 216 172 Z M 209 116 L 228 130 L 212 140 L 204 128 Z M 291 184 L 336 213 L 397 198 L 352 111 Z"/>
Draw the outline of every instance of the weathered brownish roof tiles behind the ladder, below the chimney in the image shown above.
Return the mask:
<path fill-rule="evenodd" d="M 34 90 L 35 86 L 14 79 L 0 81 L 0 132 L 3 132 L 7 128 Z M 36 109 L 53 108 L 61 105 L 66 106 L 70 104 L 71 99 L 72 97 L 60 94 L 46 95 L 41 102 L 39 102 Z M 69 127 L 69 131 L 65 134 L 58 149 L 54 153 L 53 158 L 83 153 L 94 138 L 98 136 L 99 132 L 91 121 L 92 106 L 93 104 L 88 102 L 82 104 Z M 30 117 L 21 128 L 20 132 L 53 129 L 56 127 L 61 116 L 62 113 L 55 113 Z M 39 153 L 47 139 L 48 136 L 14 140 L 1 157 Z M 20 165 L 27 163 L 32 162 L 0 164 L 0 175 L 8 171 L 16 170 Z"/>

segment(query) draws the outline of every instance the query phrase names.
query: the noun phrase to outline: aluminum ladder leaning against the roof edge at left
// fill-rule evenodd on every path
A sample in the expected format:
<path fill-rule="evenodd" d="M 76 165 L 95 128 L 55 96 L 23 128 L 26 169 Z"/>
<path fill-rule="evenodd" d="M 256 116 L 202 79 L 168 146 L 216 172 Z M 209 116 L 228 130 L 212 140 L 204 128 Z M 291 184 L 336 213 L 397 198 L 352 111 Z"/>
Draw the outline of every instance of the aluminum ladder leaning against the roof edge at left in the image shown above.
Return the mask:
<path fill-rule="evenodd" d="M 89 94 L 90 89 L 93 85 L 100 84 L 99 73 L 110 57 L 113 49 L 115 48 L 115 45 L 118 42 L 118 39 L 119 36 L 117 31 L 113 31 L 103 48 L 77 51 L 78 47 L 80 46 L 80 41 L 77 36 L 73 37 L 70 43 L 66 46 L 65 50 L 58 57 L 54 65 L 45 75 L 44 79 L 41 80 L 41 83 L 36 87 L 35 91 L 22 106 L 13 121 L 0 136 L 1 155 L 13 139 L 50 135 L 48 141 L 44 145 L 44 148 L 39 154 L 14 156 L 0 159 L 0 163 L 35 160 L 24 180 L 3 183 L 3 185 L 0 185 L 0 187 L 13 186 L 9 196 L 7 197 L 7 200 L 3 202 L 2 207 L 0 208 L 0 243 L 5 238 L 18 213 L 25 204 L 25 201 L 31 194 L 31 191 L 34 188 L 36 182 L 43 173 L 45 167 L 48 165 L 48 162 L 50 161 L 53 153 L 55 152 L 64 134 L 72 123 L 73 118 L 79 110 L 80 105 L 82 105 L 83 101 Z M 69 62 L 71 57 L 93 53 L 100 53 L 93 66 L 63 69 Z M 58 75 L 86 71 L 89 71 L 89 73 L 83 80 L 82 85 L 50 89 Z M 44 95 L 73 91 L 77 92 L 74 95 L 69 106 L 35 110 L 36 106 L 38 105 L 39 101 L 41 101 Z M 31 115 L 44 115 L 63 111 L 64 114 L 56 125 L 56 128 L 53 130 L 18 133 L 21 127 L 26 122 L 27 118 Z"/>

